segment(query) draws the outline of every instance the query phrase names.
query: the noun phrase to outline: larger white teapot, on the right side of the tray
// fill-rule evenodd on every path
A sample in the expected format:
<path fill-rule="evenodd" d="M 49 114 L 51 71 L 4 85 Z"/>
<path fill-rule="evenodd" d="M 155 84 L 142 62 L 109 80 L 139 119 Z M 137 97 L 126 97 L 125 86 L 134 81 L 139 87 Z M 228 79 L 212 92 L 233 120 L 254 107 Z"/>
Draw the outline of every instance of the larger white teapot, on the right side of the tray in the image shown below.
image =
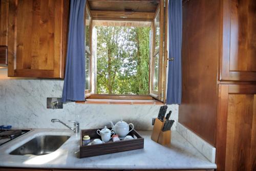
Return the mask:
<path fill-rule="evenodd" d="M 129 134 L 129 132 L 131 132 L 134 129 L 134 125 L 132 123 L 127 124 L 125 121 L 123 121 L 123 119 L 121 119 L 121 121 L 118 121 L 115 126 L 112 123 L 112 121 L 110 121 L 110 123 L 115 134 L 118 134 L 119 138 L 121 139 L 124 138 L 127 134 Z M 129 131 L 130 125 L 132 126 L 132 129 Z"/>

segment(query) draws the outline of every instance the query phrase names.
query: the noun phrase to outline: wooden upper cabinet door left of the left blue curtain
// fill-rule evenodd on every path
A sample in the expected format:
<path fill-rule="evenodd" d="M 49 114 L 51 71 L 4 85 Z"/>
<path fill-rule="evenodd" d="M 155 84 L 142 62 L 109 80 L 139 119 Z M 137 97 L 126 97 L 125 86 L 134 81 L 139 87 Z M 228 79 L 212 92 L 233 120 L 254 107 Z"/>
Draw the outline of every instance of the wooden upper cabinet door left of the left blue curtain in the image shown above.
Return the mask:
<path fill-rule="evenodd" d="M 10 0 L 8 76 L 63 78 L 69 1 Z"/>

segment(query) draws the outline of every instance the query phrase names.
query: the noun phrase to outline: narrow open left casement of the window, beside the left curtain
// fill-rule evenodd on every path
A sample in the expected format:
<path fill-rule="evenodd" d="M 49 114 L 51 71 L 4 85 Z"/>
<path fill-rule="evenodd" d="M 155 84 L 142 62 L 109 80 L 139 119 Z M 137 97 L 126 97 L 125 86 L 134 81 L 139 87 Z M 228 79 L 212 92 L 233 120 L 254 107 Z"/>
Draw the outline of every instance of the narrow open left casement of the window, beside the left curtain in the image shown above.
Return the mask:
<path fill-rule="evenodd" d="M 89 33 L 90 34 L 90 49 L 85 47 L 86 53 L 88 53 L 90 55 L 90 74 L 89 74 L 89 77 L 90 77 L 90 82 L 89 82 L 90 89 L 86 89 L 85 93 L 86 93 L 86 96 L 88 96 L 88 95 L 90 96 L 90 94 L 92 93 L 92 23 L 93 23 L 92 21 L 93 21 L 93 19 L 92 19 L 92 14 L 91 14 L 91 10 L 89 8 L 88 2 L 86 4 L 86 9 L 84 9 L 84 10 L 85 10 L 84 11 L 84 15 L 85 15 L 85 17 L 84 17 L 84 25 L 85 26 L 86 26 L 87 15 L 89 14 L 89 16 L 90 16 L 90 29 L 89 29 L 89 32 L 90 32 Z M 86 30 L 86 28 L 85 28 L 85 30 Z"/>

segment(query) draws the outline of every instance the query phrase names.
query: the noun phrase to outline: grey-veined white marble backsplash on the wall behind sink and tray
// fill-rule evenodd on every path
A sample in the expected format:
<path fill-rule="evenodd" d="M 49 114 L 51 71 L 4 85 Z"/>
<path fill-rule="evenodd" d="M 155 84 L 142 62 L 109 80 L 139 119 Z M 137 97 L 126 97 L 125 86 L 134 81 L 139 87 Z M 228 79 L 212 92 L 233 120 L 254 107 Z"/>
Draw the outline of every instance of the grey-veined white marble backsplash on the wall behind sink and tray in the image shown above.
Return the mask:
<path fill-rule="evenodd" d="M 157 117 L 159 105 L 106 105 L 67 103 L 63 109 L 47 109 L 47 97 L 61 97 L 62 80 L 10 79 L 7 69 L 0 69 L 0 125 L 16 128 L 66 128 L 51 123 L 58 118 L 65 123 L 77 120 L 81 129 L 110 126 L 123 118 L 138 130 L 152 130 L 152 117 Z M 168 105 L 172 119 L 178 121 L 178 105 Z M 167 110 L 167 111 L 168 111 Z M 70 123 L 72 126 L 72 124 Z M 176 129 L 176 125 L 173 126 Z"/>

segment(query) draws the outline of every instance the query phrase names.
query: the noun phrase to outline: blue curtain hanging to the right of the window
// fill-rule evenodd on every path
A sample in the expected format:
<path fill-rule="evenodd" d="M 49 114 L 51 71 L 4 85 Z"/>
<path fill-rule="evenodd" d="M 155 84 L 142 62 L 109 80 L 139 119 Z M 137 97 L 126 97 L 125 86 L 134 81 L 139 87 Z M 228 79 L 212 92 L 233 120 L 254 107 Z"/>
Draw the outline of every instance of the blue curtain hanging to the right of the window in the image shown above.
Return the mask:
<path fill-rule="evenodd" d="M 181 104 L 181 45 L 182 45 L 182 0 L 169 0 L 169 54 L 167 104 Z"/>

